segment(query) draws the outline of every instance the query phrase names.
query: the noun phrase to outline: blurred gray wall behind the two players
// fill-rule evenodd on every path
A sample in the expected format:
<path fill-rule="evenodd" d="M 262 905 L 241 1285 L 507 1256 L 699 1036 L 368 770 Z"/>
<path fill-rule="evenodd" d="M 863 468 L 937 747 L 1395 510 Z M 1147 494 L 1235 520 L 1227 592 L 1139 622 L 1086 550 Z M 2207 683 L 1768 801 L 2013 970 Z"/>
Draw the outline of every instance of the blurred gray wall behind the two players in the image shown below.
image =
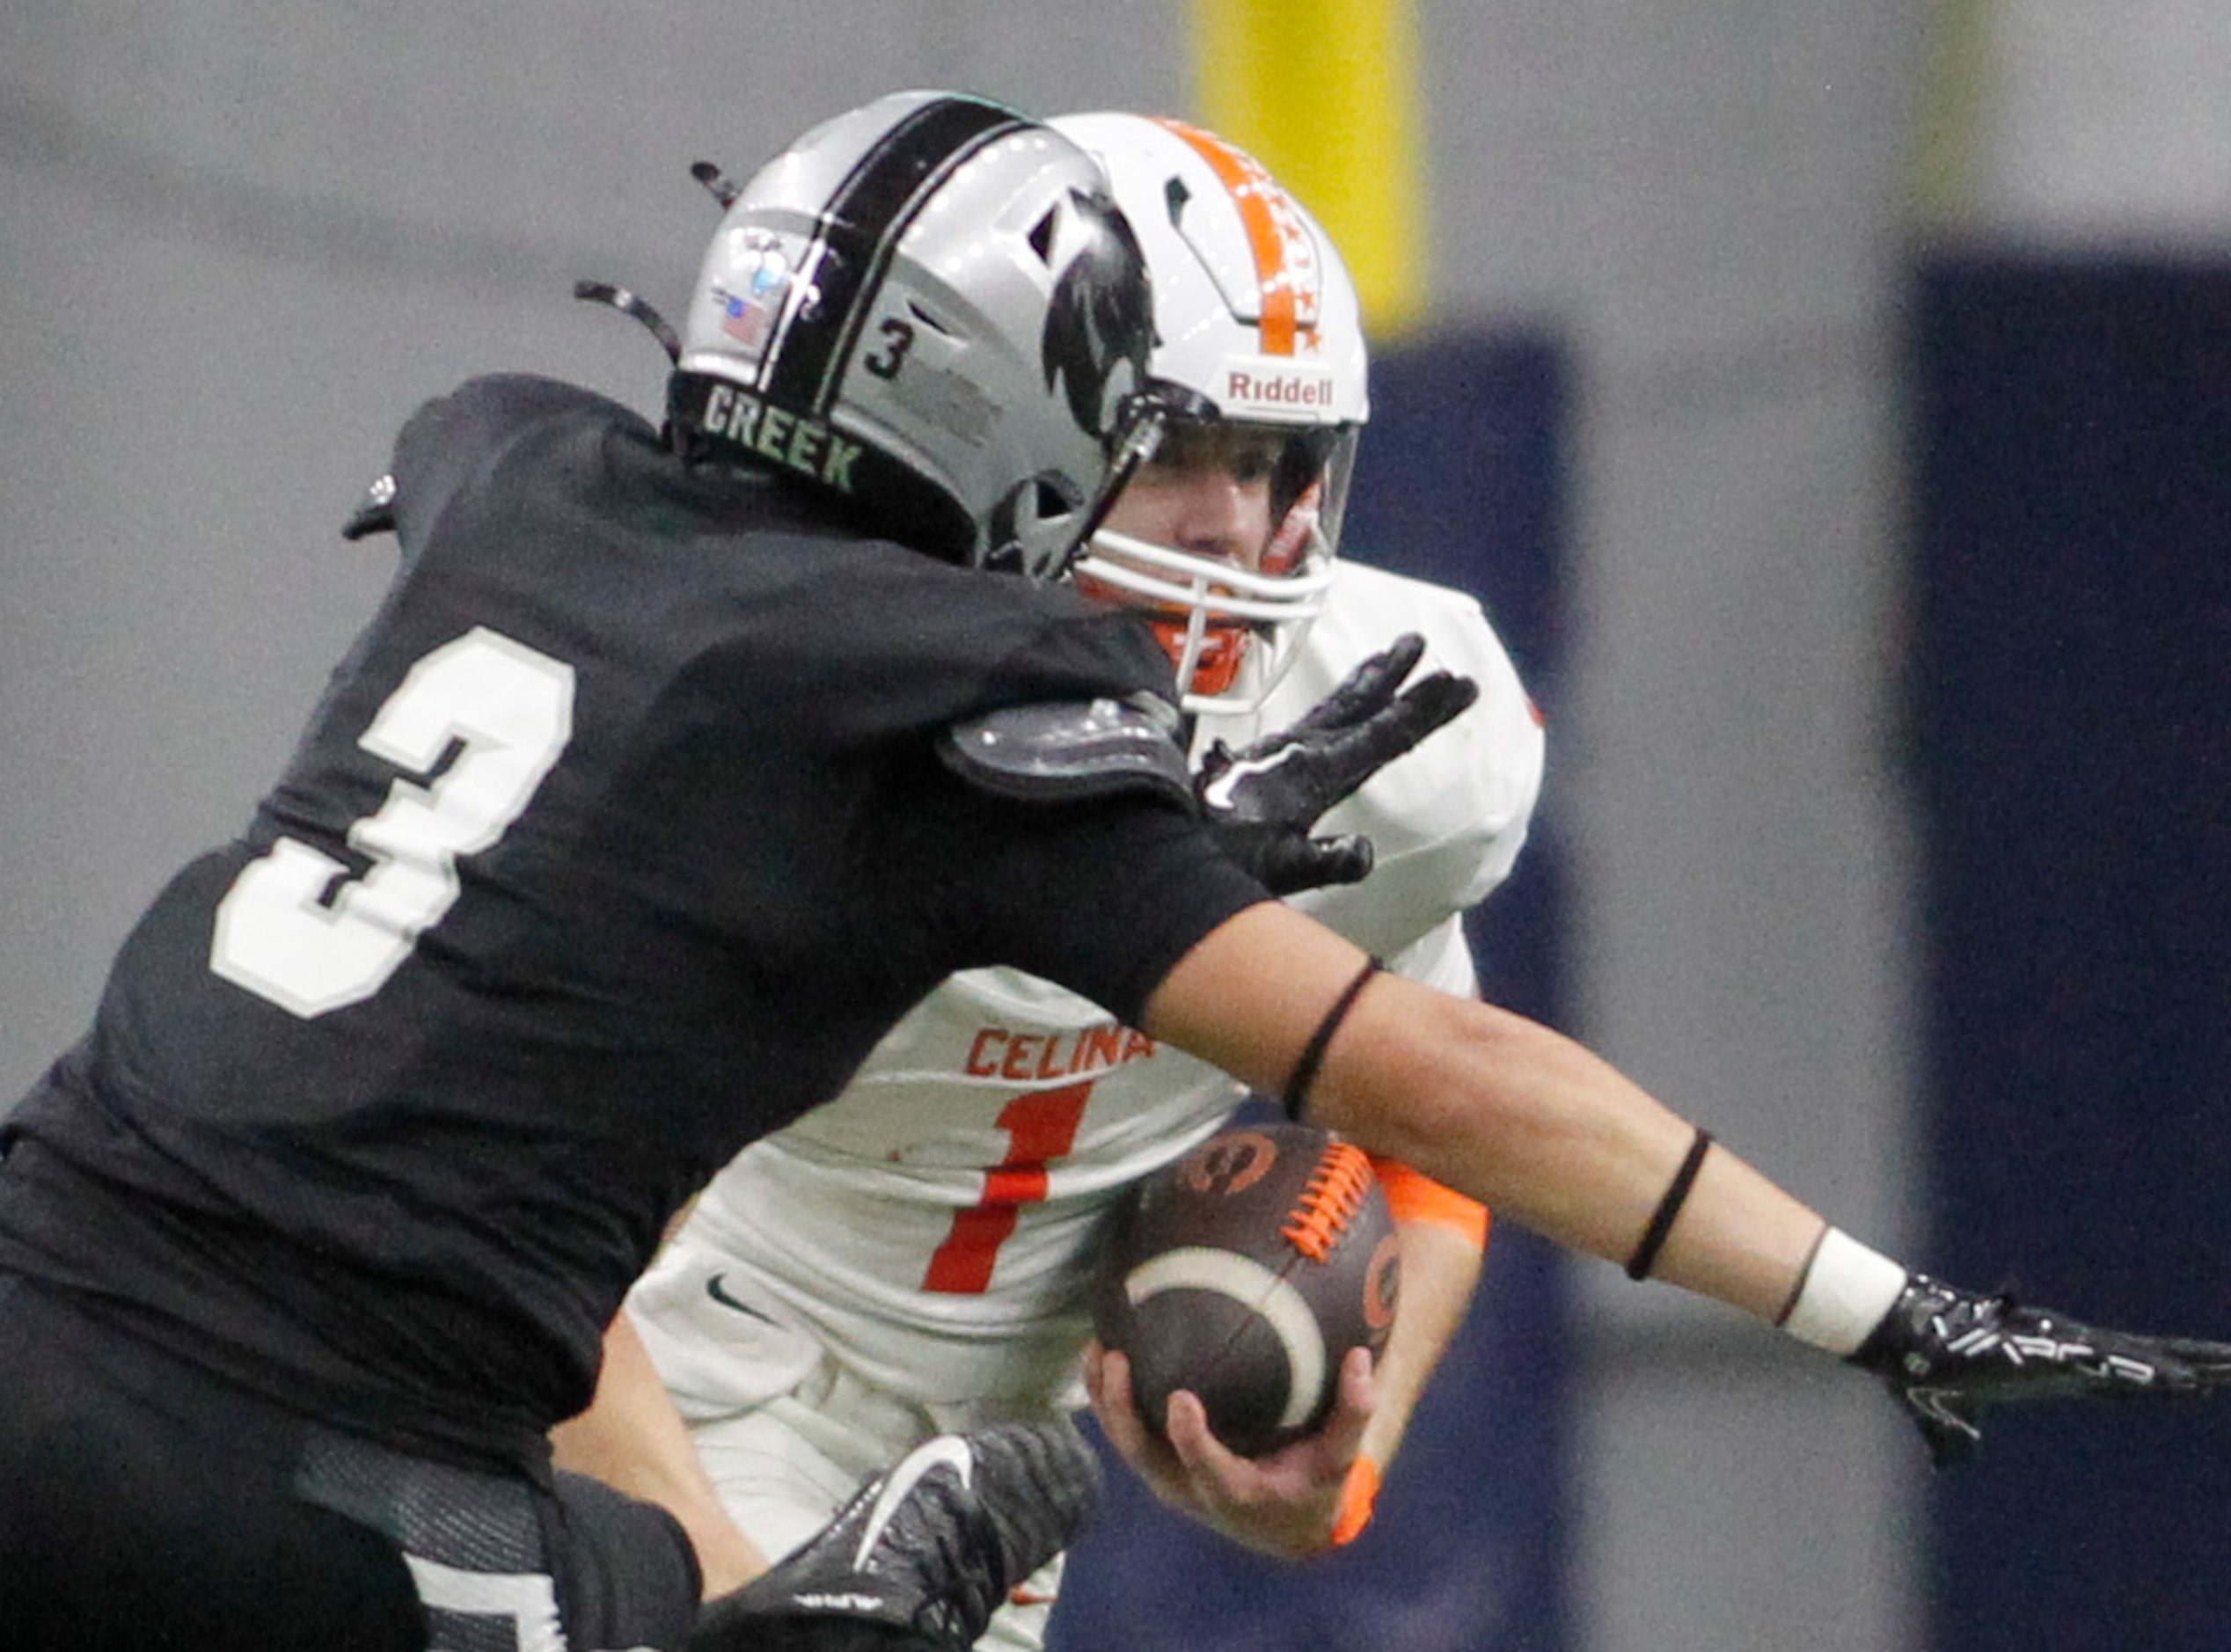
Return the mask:
<path fill-rule="evenodd" d="M 1430 328 L 1571 352 L 1546 807 L 1575 1030 L 1896 1251 L 1905 261 L 2222 259 L 2231 13 L 1417 13 Z M 384 542 L 335 528 L 411 408 L 489 368 L 656 404 L 654 346 L 567 294 L 609 276 L 678 312 L 712 227 L 685 163 L 743 174 L 904 85 L 1198 114 L 1187 40 L 1180 0 L 0 11 L 0 1095 L 274 776 L 384 586 Z M 1575 1648 L 1921 1643 L 1925 1469 L 1887 1407 L 1611 1269 L 1577 1304 Z"/>

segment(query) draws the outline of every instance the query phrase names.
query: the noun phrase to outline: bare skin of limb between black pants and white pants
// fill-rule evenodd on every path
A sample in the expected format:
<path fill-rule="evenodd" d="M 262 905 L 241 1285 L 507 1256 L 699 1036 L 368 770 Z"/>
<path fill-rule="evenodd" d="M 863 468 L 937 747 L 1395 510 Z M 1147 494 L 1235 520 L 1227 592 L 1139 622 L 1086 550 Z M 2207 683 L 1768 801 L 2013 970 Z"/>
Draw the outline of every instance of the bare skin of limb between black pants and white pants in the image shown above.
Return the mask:
<path fill-rule="evenodd" d="M 614 1318 L 605 1333 L 596 1398 L 587 1411 L 551 1429 L 551 1454 L 560 1469 L 593 1476 L 680 1520 L 698 1554 L 707 1598 L 767 1570 L 765 1556 L 721 1507 L 721 1494 L 627 1313 Z"/>

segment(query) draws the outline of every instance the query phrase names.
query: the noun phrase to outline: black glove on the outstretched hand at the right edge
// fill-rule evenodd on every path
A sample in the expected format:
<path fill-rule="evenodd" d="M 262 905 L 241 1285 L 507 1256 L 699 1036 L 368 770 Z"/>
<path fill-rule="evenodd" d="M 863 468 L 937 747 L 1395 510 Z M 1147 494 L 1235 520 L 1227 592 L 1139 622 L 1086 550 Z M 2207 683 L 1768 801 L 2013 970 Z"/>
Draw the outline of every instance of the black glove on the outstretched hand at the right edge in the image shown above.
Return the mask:
<path fill-rule="evenodd" d="M 1939 1469 L 1968 1458 L 1992 1405 L 2204 1393 L 2231 1384 L 2231 1344 L 2099 1331 L 2012 1295 L 1974 1295 L 1923 1273 L 1852 1364 L 1890 1384 Z"/>

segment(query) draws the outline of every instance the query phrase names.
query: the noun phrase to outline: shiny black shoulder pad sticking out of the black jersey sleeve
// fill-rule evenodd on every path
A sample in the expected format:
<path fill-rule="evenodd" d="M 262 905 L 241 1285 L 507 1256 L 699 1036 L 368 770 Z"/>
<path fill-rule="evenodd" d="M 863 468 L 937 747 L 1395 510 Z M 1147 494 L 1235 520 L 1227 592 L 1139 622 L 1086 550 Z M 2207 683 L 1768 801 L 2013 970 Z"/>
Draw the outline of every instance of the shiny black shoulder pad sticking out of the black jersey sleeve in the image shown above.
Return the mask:
<path fill-rule="evenodd" d="M 937 756 L 968 785 L 1026 803 L 1151 791 L 1194 805 L 1178 716 L 1162 700 L 1017 704 L 955 722 Z"/>

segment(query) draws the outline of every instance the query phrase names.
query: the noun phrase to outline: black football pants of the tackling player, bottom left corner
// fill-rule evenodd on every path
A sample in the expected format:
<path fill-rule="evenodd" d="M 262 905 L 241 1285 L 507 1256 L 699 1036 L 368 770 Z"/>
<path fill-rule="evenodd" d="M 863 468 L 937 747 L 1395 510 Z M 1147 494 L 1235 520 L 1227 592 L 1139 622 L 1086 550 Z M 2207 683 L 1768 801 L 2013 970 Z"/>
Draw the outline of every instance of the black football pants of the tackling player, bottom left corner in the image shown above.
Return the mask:
<path fill-rule="evenodd" d="M 0 1273 L 9 1652 L 602 1652 L 694 1614 L 658 1509 L 328 1429 Z"/>

